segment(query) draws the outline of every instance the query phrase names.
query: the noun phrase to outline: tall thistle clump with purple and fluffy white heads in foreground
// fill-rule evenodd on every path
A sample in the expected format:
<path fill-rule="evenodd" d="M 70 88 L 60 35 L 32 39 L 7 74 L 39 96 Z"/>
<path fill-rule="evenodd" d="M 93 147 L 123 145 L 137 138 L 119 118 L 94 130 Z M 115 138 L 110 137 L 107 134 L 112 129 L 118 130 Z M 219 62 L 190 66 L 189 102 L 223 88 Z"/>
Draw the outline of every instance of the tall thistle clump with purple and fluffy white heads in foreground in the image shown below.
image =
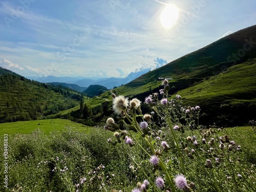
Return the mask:
<path fill-rule="evenodd" d="M 105 129 L 114 132 L 117 147 L 129 145 L 133 164 L 143 169 L 132 156 L 138 145 L 147 157 L 154 175 L 143 170 L 146 184 L 132 191 L 256 191 L 255 173 L 240 166 L 242 148 L 216 124 L 205 129 L 199 124 L 200 106 L 184 106 L 182 97 L 168 95 L 168 80 L 163 89 L 145 98 L 152 112 L 141 111 L 141 101 L 113 94 L 117 122 L 110 117 Z M 121 123 L 118 123 L 121 122 Z M 134 133 L 131 130 L 135 130 Z M 249 167 L 249 166 L 248 166 Z"/>

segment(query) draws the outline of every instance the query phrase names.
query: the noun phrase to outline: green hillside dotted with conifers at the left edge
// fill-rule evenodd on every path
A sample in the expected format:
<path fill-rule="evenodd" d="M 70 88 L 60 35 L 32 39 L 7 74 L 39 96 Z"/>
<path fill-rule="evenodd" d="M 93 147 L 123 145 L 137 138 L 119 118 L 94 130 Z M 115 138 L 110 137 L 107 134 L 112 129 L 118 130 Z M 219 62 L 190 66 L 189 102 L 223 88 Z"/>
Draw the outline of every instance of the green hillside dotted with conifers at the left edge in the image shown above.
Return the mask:
<path fill-rule="evenodd" d="M 80 94 L 0 68 L 0 123 L 35 120 L 79 105 Z"/>

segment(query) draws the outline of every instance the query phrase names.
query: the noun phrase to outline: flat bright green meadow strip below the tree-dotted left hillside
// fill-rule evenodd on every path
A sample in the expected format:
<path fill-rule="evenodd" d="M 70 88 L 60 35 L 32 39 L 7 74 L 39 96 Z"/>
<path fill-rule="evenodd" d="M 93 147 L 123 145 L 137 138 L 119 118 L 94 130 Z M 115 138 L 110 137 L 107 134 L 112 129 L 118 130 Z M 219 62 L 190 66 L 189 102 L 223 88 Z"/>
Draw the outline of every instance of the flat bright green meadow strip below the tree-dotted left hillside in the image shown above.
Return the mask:
<path fill-rule="evenodd" d="M 75 131 L 89 132 L 92 127 L 75 123 L 67 119 L 44 119 L 34 121 L 17 121 L 11 123 L 1 123 L 0 132 L 3 134 L 13 135 L 29 134 L 37 129 L 41 130 L 45 134 L 49 134 L 54 131 L 65 131 L 66 128 L 71 128 Z"/>

